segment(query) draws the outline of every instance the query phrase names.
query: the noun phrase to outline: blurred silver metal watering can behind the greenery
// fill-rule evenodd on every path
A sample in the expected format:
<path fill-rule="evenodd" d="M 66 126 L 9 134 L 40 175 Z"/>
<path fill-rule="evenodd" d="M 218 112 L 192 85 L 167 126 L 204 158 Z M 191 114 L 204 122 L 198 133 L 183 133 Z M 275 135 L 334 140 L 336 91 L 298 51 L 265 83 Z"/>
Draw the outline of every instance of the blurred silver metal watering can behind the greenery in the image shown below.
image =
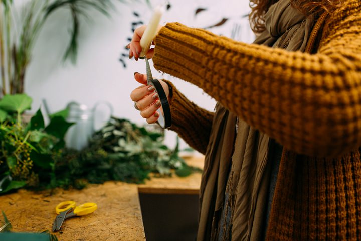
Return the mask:
<path fill-rule="evenodd" d="M 105 123 L 109 121 L 113 114 L 113 107 L 108 102 L 98 102 L 93 108 L 89 108 L 88 106 L 77 102 L 70 102 L 67 105 L 69 114 L 66 120 L 75 123 L 69 128 L 65 135 L 65 144 L 68 148 L 81 150 L 88 146 L 89 139 L 96 129 L 96 117 L 99 115 L 97 112 L 100 105 L 106 105 L 110 111 L 109 116 L 103 121 L 103 123 Z"/>

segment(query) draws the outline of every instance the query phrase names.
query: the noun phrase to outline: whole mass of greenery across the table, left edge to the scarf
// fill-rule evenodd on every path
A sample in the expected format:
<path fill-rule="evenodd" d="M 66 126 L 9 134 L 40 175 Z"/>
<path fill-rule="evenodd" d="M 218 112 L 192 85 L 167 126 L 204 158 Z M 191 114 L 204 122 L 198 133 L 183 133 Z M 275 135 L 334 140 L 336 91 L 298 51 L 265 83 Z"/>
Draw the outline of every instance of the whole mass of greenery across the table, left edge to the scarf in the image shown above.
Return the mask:
<path fill-rule="evenodd" d="M 0 195 L 22 187 L 78 188 L 109 180 L 142 183 L 150 173 L 157 177 L 188 176 L 201 169 L 188 166 L 163 144 L 164 133 L 155 125 L 138 127 L 112 117 L 82 151 L 65 148 L 64 136 L 72 123 L 67 110 L 50 115 L 45 126 L 40 111 L 22 120 L 32 99 L 25 94 L 0 100 Z"/>

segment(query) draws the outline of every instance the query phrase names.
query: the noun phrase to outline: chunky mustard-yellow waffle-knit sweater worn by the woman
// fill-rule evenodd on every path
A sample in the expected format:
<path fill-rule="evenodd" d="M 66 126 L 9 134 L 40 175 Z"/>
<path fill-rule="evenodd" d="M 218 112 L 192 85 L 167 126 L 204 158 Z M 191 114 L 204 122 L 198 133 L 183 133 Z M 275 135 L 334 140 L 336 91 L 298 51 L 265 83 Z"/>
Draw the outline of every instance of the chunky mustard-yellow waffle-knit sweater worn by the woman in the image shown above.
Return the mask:
<path fill-rule="evenodd" d="M 285 147 L 267 240 L 361 239 L 361 1 L 342 2 L 317 21 L 309 53 L 178 23 L 155 39 L 156 69 L 201 87 Z M 206 153 L 213 113 L 174 86 L 170 105 L 172 130 Z"/>

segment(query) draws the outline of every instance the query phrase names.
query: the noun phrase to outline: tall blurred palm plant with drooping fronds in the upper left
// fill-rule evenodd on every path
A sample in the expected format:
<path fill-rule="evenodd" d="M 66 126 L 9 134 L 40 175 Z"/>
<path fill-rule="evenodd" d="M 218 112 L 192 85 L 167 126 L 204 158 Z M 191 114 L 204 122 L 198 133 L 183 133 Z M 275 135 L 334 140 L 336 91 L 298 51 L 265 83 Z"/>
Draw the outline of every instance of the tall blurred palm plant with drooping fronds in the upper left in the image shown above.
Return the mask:
<path fill-rule="evenodd" d="M 75 63 L 81 19 L 90 19 L 90 10 L 109 16 L 108 11 L 114 7 L 115 0 L 30 0 L 20 14 L 15 10 L 13 0 L 0 1 L 0 76 L 4 96 L 24 93 L 25 74 L 33 46 L 51 14 L 58 9 L 67 9 L 71 14 L 71 37 L 64 60 L 70 58 Z"/>

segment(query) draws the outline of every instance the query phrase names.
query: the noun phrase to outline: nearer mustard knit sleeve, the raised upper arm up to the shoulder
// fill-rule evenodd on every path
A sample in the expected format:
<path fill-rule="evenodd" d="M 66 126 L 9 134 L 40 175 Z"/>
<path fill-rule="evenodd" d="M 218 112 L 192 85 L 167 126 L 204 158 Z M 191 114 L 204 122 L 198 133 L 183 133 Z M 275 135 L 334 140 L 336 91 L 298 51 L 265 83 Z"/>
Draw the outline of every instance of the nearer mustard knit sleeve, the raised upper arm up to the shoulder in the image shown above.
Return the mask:
<path fill-rule="evenodd" d="M 289 150 L 347 153 L 361 146 L 361 2 L 345 2 L 326 21 L 316 54 L 169 23 L 155 38 L 154 66 L 201 87 Z"/>

